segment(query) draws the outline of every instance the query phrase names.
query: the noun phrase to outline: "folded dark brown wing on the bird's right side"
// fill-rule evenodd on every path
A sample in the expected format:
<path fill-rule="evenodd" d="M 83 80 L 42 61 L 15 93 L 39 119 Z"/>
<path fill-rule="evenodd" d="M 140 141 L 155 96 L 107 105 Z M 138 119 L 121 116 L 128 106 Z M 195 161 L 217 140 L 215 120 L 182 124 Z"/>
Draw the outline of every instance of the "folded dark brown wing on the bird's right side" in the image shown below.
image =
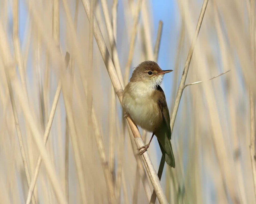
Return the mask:
<path fill-rule="evenodd" d="M 157 87 L 157 90 L 159 92 L 162 92 L 161 96 L 158 99 L 158 105 L 161 109 L 161 112 L 164 118 L 164 126 L 168 129 L 168 132 L 169 132 L 169 134 L 167 134 L 168 138 L 171 139 L 170 115 L 169 115 L 169 110 L 168 110 L 168 106 L 165 99 L 165 94 L 163 89 L 160 86 Z"/>

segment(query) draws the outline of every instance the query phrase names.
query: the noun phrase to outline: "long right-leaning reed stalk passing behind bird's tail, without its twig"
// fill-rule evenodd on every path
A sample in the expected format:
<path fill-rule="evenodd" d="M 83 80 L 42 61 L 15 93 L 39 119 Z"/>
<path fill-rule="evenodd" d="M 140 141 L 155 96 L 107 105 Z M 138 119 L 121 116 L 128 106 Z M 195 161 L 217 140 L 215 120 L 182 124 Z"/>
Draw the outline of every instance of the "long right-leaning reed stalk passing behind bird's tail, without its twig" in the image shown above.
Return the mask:
<path fill-rule="evenodd" d="M 187 74 L 188 74 L 188 68 L 189 68 L 189 65 L 190 65 L 190 62 L 191 62 L 191 58 L 192 58 L 193 51 L 194 51 L 194 48 L 195 48 L 196 40 L 197 40 L 199 31 L 200 31 L 200 27 L 202 25 L 202 21 L 203 21 L 203 18 L 204 18 L 204 14 L 205 14 L 207 4 L 208 4 L 208 0 L 204 0 L 204 2 L 202 4 L 200 15 L 199 15 L 199 19 L 198 19 L 198 22 L 197 22 L 195 35 L 194 35 L 193 41 L 192 41 L 191 46 L 190 46 L 189 51 L 188 51 L 187 60 L 186 60 L 186 63 L 185 63 L 185 67 L 184 67 L 184 70 L 183 70 L 182 77 L 180 79 L 179 88 L 178 88 L 178 91 L 177 91 L 177 95 L 176 95 L 176 99 L 175 99 L 174 107 L 173 107 L 173 112 L 172 112 L 172 116 L 171 116 L 171 119 L 170 119 L 171 130 L 173 130 L 175 118 L 176 118 L 176 115 L 177 115 L 177 112 L 178 112 L 180 99 L 181 99 L 183 90 L 185 88 L 185 82 L 186 82 L 186 78 L 187 78 Z M 161 158 L 161 162 L 160 162 L 160 165 L 159 165 L 158 175 L 162 175 L 163 170 L 164 170 L 165 162 L 163 162 L 162 160 L 164 160 L 163 157 Z M 155 203 L 155 199 L 156 199 L 156 196 L 155 196 L 155 193 L 153 191 L 150 203 Z"/>

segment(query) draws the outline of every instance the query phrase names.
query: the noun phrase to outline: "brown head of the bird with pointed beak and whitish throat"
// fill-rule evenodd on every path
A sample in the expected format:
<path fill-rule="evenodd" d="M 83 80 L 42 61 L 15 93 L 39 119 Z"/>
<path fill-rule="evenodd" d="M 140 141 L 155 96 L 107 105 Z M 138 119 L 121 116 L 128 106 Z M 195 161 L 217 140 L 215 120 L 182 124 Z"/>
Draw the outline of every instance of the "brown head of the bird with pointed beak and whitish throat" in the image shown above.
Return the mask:
<path fill-rule="evenodd" d="M 144 82 L 150 87 L 161 85 L 163 76 L 173 70 L 162 70 L 156 62 L 144 61 L 133 71 L 130 82 Z"/>

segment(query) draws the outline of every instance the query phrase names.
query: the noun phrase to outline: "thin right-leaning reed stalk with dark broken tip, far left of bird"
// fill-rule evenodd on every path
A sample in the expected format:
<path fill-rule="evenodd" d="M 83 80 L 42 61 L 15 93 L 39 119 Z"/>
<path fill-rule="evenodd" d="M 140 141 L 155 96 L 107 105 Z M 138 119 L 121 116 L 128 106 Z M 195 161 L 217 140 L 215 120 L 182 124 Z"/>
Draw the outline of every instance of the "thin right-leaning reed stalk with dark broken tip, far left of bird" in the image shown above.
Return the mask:
<path fill-rule="evenodd" d="M 68 66 L 68 63 L 69 63 L 69 54 L 68 53 L 66 53 L 65 60 L 66 60 L 66 65 Z M 45 133 L 44 133 L 44 145 L 46 145 L 49 134 L 50 134 L 52 121 L 54 119 L 54 115 L 55 115 L 55 112 L 56 112 L 56 107 L 57 107 L 59 97 L 60 97 L 60 92 L 61 92 L 61 83 L 59 82 L 58 86 L 57 86 L 57 89 L 56 89 L 56 92 L 55 92 L 54 100 L 52 102 L 52 107 L 51 107 L 49 119 L 48 119 L 46 129 L 45 129 Z M 37 159 L 36 169 L 34 171 L 35 175 L 34 175 L 33 180 L 32 180 L 32 182 L 29 186 L 29 191 L 28 191 L 26 204 L 29 204 L 30 201 L 31 201 L 31 195 L 33 194 L 33 191 L 34 191 L 34 188 L 35 188 L 35 185 L 36 185 L 36 181 L 37 181 L 37 178 L 38 178 L 41 162 L 42 162 L 42 158 L 41 158 L 41 156 L 39 156 L 38 159 Z"/>

